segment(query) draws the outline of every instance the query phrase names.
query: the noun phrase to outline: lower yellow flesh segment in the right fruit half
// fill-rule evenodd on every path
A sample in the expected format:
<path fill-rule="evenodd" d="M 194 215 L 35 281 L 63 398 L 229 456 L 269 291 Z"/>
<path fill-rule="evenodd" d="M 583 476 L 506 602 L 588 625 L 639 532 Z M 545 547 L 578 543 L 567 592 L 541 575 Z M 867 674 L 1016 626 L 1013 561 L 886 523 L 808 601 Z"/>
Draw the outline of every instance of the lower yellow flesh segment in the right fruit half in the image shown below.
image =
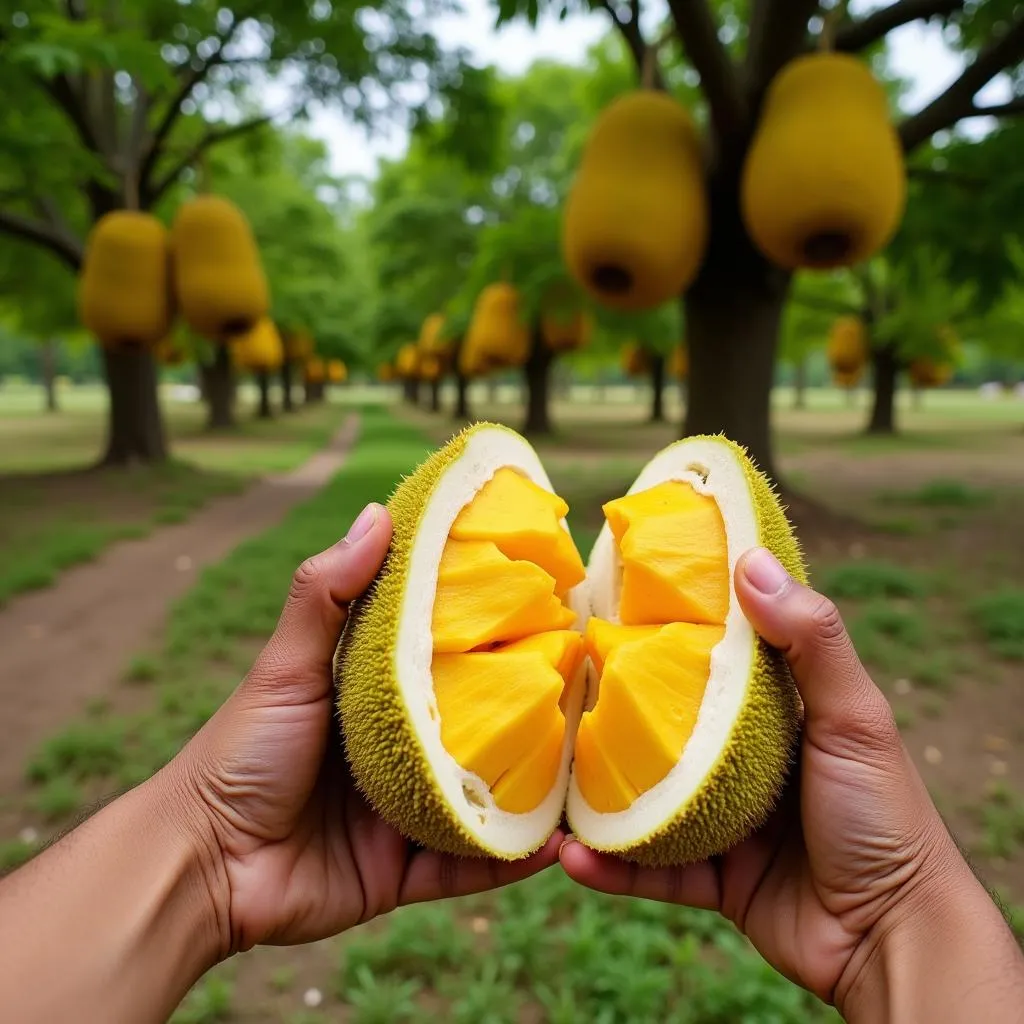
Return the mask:
<path fill-rule="evenodd" d="M 675 767 L 724 635 L 723 626 L 671 623 L 611 647 L 577 734 L 577 780 L 592 807 L 625 810 Z"/>

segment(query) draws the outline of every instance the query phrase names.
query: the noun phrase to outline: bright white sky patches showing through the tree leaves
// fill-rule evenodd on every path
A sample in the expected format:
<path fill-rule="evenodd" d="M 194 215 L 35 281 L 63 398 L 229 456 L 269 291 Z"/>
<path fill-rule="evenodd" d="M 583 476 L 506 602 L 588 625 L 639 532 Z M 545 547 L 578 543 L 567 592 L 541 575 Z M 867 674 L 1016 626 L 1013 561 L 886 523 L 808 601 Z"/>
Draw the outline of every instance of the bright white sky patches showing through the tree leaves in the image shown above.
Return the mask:
<path fill-rule="evenodd" d="M 440 43 L 450 48 L 466 47 L 477 65 L 494 65 L 508 75 L 523 72 L 535 60 L 547 58 L 566 63 L 582 63 L 587 50 L 607 31 L 609 19 L 602 12 L 574 14 L 559 22 L 544 17 L 536 29 L 516 22 L 495 29 L 493 0 L 462 0 L 463 11 L 436 18 L 432 28 Z M 885 4 L 854 2 L 856 14 Z M 654 24 L 664 17 L 659 4 L 648 4 Z M 905 97 L 909 111 L 919 110 L 942 92 L 958 74 L 962 61 L 946 47 L 937 26 L 911 23 L 889 35 L 893 70 L 911 84 Z M 994 102 L 1002 96 L 1002 83 L 992 83 L 980 96 Z M 975 127 L 981 128 L 980 123 Z M 331 168 L 335 174 L 372 177 L 381 157 L 397 157 L 406 148 L 407 136 L 399 130 L 376 131 L 373 138 L 346 121 L 335 111 L 321 110 L 310 125 L 311 134 L 328 144 Z"/>

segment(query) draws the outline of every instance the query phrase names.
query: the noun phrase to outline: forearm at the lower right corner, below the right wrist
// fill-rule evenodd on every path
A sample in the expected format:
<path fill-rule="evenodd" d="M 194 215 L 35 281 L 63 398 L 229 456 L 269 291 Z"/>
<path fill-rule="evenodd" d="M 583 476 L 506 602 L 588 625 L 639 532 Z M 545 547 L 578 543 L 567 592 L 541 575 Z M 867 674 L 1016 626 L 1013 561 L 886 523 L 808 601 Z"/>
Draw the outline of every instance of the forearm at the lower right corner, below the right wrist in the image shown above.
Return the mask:
<path fill-rule="evenodd" d="M 963 864 L 876 937 L 837 1002 L 850 1024 L 1020 1024 L 1024 954 Z"/>

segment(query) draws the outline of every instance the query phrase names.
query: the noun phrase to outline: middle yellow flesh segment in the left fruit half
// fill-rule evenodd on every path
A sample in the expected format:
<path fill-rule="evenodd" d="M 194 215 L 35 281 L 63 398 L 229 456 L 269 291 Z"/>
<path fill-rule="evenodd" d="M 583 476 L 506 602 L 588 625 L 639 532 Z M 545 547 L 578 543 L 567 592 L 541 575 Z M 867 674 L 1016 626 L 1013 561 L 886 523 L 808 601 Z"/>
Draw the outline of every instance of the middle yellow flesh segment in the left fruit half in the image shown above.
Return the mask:
<path fill-rule="evenodd" d="M 518 640 L 575 622 L 539 565 L 513 561 L 490 541 L 449 541 L 431 618 L 434 651 L 454 653 Z"/>

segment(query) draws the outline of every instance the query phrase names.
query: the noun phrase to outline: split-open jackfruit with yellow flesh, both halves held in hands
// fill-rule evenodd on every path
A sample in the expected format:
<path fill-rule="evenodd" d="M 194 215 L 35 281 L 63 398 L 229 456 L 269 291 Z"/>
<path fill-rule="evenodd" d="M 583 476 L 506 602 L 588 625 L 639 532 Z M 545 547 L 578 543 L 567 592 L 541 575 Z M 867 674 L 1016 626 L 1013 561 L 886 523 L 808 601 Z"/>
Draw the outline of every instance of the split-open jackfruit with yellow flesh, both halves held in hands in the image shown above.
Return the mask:
<path fill-rule="evenodd" d="M 594 849 L 702 860 L 769 814 L 800 702 L 732 589 L 765 545 L 797 579 L 777 496 L 737 445 L 657 455 L 586 572 L 534 450 L 477 424 L 388 502 L 384 565 L 335 658 L 360 790 L 429 848 L 514 859 L 563 814 Z"/>

